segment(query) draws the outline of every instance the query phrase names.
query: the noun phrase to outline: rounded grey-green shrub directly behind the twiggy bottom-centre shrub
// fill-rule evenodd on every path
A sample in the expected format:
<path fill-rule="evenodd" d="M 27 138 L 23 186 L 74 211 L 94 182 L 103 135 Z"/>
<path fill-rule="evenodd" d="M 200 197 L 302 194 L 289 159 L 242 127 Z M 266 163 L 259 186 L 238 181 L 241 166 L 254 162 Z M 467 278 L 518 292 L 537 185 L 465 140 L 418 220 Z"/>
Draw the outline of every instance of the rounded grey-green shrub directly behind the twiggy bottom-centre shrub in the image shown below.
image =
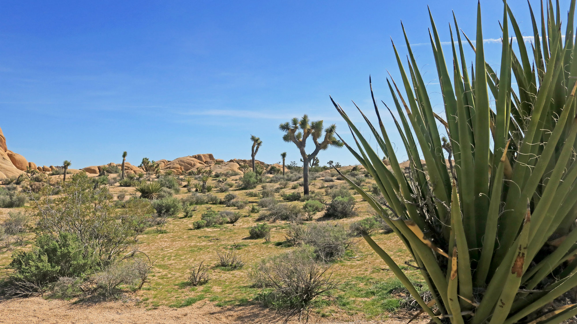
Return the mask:
<path fill-rule="evenodd" d="M 338 223 L 323 222 L 307 225 L 302 243 L 311 246 L 316 258 L 324 262 L 343 257 L 353 247 L 349 232 Z"/>

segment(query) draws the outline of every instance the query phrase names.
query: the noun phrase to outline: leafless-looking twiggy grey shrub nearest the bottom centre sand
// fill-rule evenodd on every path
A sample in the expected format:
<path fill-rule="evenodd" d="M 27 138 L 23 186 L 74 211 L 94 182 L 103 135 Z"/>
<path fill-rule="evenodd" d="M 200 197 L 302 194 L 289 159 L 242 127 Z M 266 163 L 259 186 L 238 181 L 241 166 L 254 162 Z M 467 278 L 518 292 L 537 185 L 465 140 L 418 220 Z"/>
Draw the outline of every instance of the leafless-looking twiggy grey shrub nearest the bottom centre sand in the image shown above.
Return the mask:
<path fill-rule="evenodd" d="M 272 288 L 257 300 L 267 307 L 305 310 L 317 299 L 331 297 L 338 282 L 331 278 L 330 264 L 317 262 L 307 248 L 264 258 L 250 273 L 256 287 Z"/>

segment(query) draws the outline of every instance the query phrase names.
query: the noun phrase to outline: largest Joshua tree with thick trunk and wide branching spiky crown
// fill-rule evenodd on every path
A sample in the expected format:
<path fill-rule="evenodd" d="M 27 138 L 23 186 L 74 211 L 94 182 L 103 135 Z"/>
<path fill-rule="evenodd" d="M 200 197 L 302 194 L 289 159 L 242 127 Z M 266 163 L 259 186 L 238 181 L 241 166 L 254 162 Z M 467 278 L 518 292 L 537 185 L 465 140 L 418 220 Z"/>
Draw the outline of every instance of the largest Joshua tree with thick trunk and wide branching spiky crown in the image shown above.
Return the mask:
<path fill-rule="evenodd" d="M 336 146 L 340 148 L 343 146 L 343 142 L 337 140 L 334 136 L 336 125 L 324 129 L 325 135 L 324 140 L 319 142 L 319 138 L 323 135 L 323 120 L 317 120 L 316 122 L 310 122 L 308 115 L 303 115 L 301 120 L 298 118 L 293 118 L 293 120 L 279 125 L 279 129 L 284 131 L 283 140 L 285 142 L 293 142 L 297 145 L 297 148 L 301 152 L 302 156 L 302 177 L 303 177 L 303 187 L 304 194 L 309 194 L 309 161 L 313 160 L 320 150 L 325 150 L 329 145 Z M 310 154 L 306 154 L 305 145 L 306 139 L 312 135 L 314 142 L 314 151 Z"/>

